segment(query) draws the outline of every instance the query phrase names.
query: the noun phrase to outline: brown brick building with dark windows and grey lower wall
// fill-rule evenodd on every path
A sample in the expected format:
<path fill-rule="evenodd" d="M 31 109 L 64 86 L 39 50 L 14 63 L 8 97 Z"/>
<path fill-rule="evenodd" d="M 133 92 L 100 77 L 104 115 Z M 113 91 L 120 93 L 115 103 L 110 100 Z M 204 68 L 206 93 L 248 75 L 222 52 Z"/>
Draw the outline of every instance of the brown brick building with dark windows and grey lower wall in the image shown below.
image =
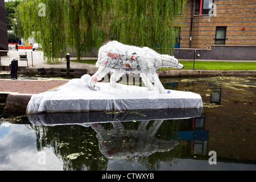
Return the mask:
<path fill-rule="evenodd" d="M 255 0 L 187 0 L 178 59 L 256 60 Z"/>

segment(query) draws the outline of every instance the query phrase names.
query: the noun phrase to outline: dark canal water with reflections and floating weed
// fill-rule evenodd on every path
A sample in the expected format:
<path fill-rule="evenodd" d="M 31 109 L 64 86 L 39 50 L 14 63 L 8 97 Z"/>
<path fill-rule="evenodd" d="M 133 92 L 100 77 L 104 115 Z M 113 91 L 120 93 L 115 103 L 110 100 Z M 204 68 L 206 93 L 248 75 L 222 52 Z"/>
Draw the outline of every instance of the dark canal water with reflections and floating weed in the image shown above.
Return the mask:
<path fill-rule="evenodd" d="M 203 110 L 1 114 L 0 171 L 256 170 L 255 77 L 161 81 Z"/>

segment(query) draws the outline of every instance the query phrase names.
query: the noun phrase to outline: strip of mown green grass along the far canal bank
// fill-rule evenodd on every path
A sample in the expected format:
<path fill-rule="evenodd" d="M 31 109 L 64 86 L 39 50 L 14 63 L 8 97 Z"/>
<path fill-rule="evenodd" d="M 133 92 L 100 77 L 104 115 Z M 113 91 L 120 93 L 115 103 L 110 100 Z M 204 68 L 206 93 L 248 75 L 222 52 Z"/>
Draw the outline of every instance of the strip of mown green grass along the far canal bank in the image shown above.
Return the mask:
<path fill-rule="evenodd" d="M 76 60 L 71 60 L 76 62 Z M 97 60 L 80 60 L 79 63 L 95 64 Z M 193 69 L 193 61 L 179 61 L 184 69 Z M 160 68 L 166 70 L 172 68 Z M 195 69 L 207 70 L 254 70 L 256 62 L 195 61 Z"/>

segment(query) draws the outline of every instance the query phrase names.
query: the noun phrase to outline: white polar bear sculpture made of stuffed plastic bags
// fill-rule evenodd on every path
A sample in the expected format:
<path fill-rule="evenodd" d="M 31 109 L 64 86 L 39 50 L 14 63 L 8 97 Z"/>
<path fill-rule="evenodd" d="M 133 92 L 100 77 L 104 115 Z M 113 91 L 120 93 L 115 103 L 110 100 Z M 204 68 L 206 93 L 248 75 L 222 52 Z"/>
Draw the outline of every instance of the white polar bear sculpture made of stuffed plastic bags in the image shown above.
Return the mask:
<path fill-rule="evenodd" d="M 100 90 L 100 87 L 95 86 L 96 83 L 111 71 L 114 72 L 110 78 L 111 86 L 114 86 L 123 74 L 139 73 L 148 90 L 170 93 L 161 84 L 156 69 L 162 67 L 181 69 L 183 65 L 174 56 L 160 55 L 148 47 L 128 46 L 112 41 L 99 49 L 96 67 L 98 71 L 92 76 L 89 84 L 92 90 Z"/>

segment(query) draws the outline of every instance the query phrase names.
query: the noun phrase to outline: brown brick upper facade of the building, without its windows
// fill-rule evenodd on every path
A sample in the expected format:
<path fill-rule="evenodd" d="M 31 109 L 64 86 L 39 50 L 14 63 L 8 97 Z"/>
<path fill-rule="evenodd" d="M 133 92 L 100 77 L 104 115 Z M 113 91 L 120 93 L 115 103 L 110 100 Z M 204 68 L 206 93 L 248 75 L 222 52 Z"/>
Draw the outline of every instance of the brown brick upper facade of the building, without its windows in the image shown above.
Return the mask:
<path fill-rule="evenodd" d="M 256 46 L 256 2 L 251 0 L 215 0 L 216 16 L 195 15 L 193 6 L 193 26 L 191 48 L 207 48 L 214 44 L 216 27 L 226 26 L 226 45 Z M 189 48 L 192 0 L 187 1 L 184 28 L 181 30 L 180 48 Z M 245 27 L 245 30 L 242 28 Z"/>

